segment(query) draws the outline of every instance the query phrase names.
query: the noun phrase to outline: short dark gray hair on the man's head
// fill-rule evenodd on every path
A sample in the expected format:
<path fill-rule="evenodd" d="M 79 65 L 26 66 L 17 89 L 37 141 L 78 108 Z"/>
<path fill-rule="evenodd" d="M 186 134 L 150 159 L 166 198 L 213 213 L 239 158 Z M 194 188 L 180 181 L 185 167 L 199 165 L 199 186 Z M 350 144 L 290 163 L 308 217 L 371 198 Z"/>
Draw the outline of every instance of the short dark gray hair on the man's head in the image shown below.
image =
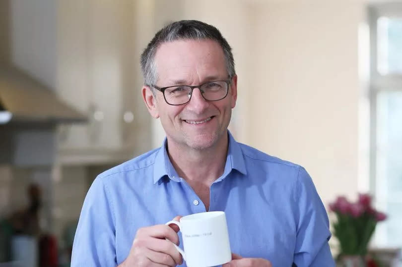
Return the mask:
<path fill-rule="evenodd" d="M 225 55 L 229 77 L 233 77 L 236 74 L 232 48 L 216 27 L 198 20 L 180 20 L 172 22 L 158 31 L 142 52 L 140 63 L 145 85 L 155 85 L 157 81 L 155 54 L 158 47 L 163 43 L 186 39 L 216 41 Z"/>

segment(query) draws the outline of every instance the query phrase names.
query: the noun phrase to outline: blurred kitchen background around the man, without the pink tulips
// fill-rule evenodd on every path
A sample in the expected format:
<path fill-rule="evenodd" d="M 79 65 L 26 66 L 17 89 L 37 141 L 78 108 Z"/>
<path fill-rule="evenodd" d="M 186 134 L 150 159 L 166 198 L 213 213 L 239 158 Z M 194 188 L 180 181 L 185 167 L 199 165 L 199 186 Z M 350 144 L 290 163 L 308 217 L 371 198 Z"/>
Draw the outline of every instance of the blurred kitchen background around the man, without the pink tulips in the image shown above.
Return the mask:
<path fill-rule="evenodd" d="M 306 167 L 326 206 L 373 194 L 371 247 L 401 248 L 402 1 L 0 0 L 0 262 L 69 266 L 96 175 L 160 146 L 138 61 L 179 19 L 233 48 L 235 138 Z"/>

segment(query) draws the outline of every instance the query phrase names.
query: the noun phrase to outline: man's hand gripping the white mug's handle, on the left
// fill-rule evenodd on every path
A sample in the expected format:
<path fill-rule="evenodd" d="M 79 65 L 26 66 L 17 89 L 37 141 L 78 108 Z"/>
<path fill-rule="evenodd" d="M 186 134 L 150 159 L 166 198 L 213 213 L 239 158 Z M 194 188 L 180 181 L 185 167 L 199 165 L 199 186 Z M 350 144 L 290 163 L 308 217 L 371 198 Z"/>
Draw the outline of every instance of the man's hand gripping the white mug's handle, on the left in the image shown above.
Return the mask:
<path fill-rule="evenodd" d="M 180 218 L 181 216 L 176 216 L 174 220 Z M 175 267 L 181 265 L 183 263 L 182 255 L 172 244 L 172 242 L 176 245 L 180 243 L 178 231 L 179 227 L 175 224 L 139 228 L 129 256 L 120 267 Z"/>

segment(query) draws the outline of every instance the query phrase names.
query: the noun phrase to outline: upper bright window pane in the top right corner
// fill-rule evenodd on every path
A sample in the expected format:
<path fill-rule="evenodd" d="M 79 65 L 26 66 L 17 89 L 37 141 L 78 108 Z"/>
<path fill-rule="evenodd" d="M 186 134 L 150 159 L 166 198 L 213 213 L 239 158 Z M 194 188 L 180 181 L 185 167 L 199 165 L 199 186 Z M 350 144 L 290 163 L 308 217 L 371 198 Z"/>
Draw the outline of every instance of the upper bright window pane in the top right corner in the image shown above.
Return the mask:
<path fill-rule="evenodd" d="M 402 18 L 378 18 L 377 37 L 378 72 L 402 74 Z"/>

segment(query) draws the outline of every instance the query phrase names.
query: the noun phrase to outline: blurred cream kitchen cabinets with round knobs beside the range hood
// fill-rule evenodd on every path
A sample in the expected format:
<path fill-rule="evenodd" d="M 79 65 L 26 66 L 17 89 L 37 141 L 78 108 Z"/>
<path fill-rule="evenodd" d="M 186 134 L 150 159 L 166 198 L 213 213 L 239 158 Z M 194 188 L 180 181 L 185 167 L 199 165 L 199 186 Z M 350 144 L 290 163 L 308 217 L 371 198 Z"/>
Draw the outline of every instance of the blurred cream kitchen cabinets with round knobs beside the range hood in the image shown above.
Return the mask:
<path fill-rule="evenodd" d="M 149 149 L 135 12 L 128 0 L 59 1 L 57 93 L 88 116 L 59 128 L 62 164 L 120 162 Z"/>

